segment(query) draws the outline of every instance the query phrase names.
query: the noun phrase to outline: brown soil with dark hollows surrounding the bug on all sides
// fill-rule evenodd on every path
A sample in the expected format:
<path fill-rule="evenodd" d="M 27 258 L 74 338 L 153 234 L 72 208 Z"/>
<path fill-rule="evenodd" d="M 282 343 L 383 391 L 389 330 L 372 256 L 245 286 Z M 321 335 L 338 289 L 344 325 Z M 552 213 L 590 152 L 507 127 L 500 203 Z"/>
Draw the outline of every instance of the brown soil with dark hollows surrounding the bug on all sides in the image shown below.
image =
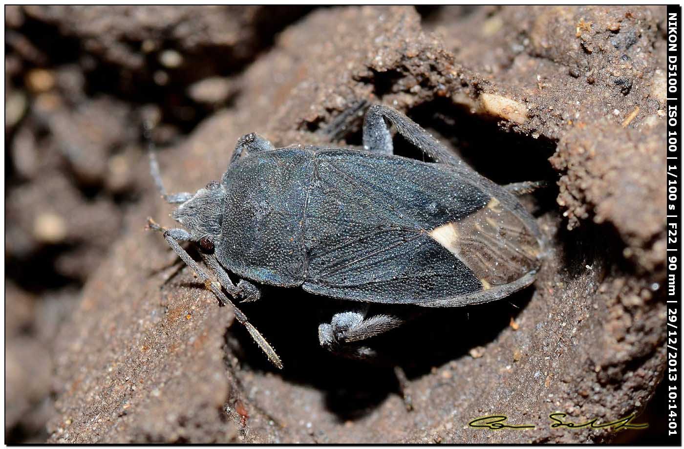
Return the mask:
<path fill-rule="evenodd" d="M 5 439 L 20 442 L 657 442 L 665 398 L 665 8 L 5 7 Z M 244 305 L 268 365 L 147 216 L 235 141 L 360 144 L 392 105 L 525 198 L 534 287 L 425 316 L 334 358 L 334 300 Z M 350 113 L 351 112 L 351 113 Z M 411 153 L 399 138 L 397 151 Z M 649 402 L 652 404 L 649 406 Z M 648 431 L 550 428 L 641 413 Z M 467 423 L 508 415 L 534 430 Z"/>

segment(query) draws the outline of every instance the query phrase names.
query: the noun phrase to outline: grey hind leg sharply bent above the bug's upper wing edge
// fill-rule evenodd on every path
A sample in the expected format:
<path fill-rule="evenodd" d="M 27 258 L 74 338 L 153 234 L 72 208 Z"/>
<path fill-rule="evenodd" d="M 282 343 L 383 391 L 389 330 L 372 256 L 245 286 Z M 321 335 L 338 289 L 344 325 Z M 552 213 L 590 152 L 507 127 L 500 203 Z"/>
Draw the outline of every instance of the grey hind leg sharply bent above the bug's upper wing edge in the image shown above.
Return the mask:
<path fill-rule="evenodd" d="M 363 123 L 363 147 L 366 151 L 393 153 L 392 136 L 385 119 L 397 128 L 399 134 L 435 162 L 450 166 L 465 166 L 460 157 L 440 144 L 420 125 L 401 112 L 383 105 L 373 105 L 366 112 Z"/>

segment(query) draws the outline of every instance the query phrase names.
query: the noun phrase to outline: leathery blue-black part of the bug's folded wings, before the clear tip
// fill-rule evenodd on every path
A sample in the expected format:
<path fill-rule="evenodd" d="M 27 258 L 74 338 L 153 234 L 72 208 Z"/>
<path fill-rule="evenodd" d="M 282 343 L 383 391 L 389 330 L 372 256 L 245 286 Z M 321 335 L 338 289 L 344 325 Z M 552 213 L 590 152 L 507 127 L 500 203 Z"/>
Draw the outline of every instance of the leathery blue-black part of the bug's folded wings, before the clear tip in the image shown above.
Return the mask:
<path fill-rule="evenodd" d="M 366 153 L 317 156 L 304 214 L 305 290 L 419 303 L 482 289 L 429 231 L 483 207 L 488 195 L 438 166 L 426 179 L 425 167 Z"/>

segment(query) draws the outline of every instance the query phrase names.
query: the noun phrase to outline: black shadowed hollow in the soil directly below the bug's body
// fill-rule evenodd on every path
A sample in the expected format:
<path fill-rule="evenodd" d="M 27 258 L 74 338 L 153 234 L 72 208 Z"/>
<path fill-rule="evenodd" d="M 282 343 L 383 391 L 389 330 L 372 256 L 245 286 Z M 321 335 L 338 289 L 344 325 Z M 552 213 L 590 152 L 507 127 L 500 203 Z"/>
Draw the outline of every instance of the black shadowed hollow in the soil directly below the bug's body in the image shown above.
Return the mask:
<path fill-rule="evenodd" d="M 344 422 L 370 413 L 388 395 L 399 394 L 394 365 L 402 367 L 410 380 L 466 355 L 471 348 L 495 339 L 533 293 L 534 287 L 528 287 L 494 303 L 449 309 L 371 305 L 369 315 L 421 313 L 404 326 L 365 342 L 383 356 L 376 362 L 346 359 L 321 348 L 319 324 L 355 304 L 298 288 L 263 287 L 258 303 L 240 305 L 278 352 L 282 370 L 269 363 L 244 326 L 235 322 L 226 335 L 241 365 L 239 372 L 270 371 L 288 383 L 326 392 L 326 407 Z"/>

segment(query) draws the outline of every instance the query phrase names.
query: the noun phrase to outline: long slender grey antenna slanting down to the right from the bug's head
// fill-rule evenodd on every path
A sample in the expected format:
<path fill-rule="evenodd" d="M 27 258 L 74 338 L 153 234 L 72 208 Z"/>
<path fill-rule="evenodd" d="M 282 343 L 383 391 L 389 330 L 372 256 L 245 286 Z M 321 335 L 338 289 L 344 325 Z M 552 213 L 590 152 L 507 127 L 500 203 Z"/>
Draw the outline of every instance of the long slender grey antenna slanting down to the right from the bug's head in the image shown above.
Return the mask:
<path fill-rule="evenodd" d="M 247 319 L 247 316 L 245 316 L 244 313 L 237 307 L 235 307 L 235 304 L 229 300 L 226 295 L 221 291 L 220 289 L 220 283 L 212 282 L 211 279 L 209 279 L 209 276 L 207 276 L 207 273 L 200 268 L 200 266 L 197 264 L 195 259 L 190 257 L 190 255 L 183 249 L 183 247 L 178 243 L 178 242 L 185 242 L 187 240 L 190 240 L 190 234 L 185 231 L 185 229 L 163 229 L 161 226 L 157 225 L 157 223 L 153 222 L 151 219 L 148 220 L 148 227 L 150 229 L 154 229 L 155 231 L 161 231 L 163 232 L 164 239 L 166 242 L 168 242 L 169 246 L 173 249 L 173 251 L 185 262 L 187 266 L 189 266 L 196 274 L 197 277 L 204 283 L 205 288 L 207 290 L 210 290 L 214 296 L 218 299 L 218 302 L 221 305 L 229 305 L 233 308 L 233 312 L 235 313 L 235 318 L 237 318 L 237 321 L 240 322 L 243 326 L 247 328 L 247 331 L 250 333 L 252 339 L 254 339 L 254 342 L 259 345 L 261 350 L 265 352 L 266 357 L 276 365 L 277 368 L 282 368 L 282 361 L 280 361 L 280 357 L 278 357 L 278 354 L 276 354 L 276 351 L 271 347 L 270 344 L 266 341 L 266 339 L 257 331 L 257 328 L 252 326 L 252 324 L 249 322 Z M 227 279 L 227 276 L 226 276 Z"/>

